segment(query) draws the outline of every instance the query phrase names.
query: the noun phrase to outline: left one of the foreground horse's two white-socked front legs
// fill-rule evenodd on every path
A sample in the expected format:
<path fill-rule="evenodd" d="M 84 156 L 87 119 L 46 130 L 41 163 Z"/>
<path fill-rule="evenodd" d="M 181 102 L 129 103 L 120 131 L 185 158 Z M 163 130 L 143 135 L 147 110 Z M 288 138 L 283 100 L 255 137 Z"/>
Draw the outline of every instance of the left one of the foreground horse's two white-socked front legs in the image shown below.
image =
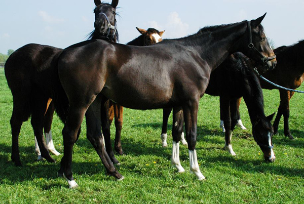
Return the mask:
<path fill-rule="evenodd" d="M 169 112 L 169 108 L 163 109 L 163 111 Z M 171 108 L 170 108 L 171 112 Z M 170 113 L 168 114 L 170 115 Z M 173 126 L 172 126 L 172 137 L 173 137 L 173 146 L 172 146 L 172 157 L 171 165 L 177 169 L 177 172 L 184 172 L 184 168 L 180 165 L 179 160 L 179 141 L 181 139 L 181 133 L 183 131 L 183 112 L 181 107 L 173 108 Z M 168 120 L 167 120 L 168 122 Z M 164 124 L 163 124 L 164 125 Z"/>

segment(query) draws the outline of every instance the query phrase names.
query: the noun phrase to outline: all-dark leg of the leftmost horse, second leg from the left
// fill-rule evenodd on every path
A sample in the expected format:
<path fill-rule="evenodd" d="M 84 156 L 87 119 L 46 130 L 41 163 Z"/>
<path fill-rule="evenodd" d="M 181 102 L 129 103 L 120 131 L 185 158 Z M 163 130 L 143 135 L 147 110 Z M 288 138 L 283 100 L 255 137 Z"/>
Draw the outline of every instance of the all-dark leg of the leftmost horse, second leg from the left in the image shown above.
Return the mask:
<path fill-rule="evenodd" d="M 55 162 L 47 149 L 45 139 L 43 137 L 44 114 L 47 107 L 48 98 L 43 96 L 36 96 L 33 100 L 33 113 L 31 117 L 31 126 L 34 130 L 37 144 L 39 146 L 41 156 L 49 162 Z"/>

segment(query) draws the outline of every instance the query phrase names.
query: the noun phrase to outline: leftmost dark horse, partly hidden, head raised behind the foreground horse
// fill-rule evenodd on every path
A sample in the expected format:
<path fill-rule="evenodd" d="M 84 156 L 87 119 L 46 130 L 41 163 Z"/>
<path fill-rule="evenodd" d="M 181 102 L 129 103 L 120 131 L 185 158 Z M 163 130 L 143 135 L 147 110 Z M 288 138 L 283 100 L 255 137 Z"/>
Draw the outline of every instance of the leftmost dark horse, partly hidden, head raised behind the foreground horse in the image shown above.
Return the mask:
<path fill-rule="evenodd" d="M 90 33 L 90 38 L 103 38 L 116 42 L 118 33 L 110 35 L 107 23 L 115 26 L 116 20 L 113 12 L 115 12 L 118 0 L 113 0 L 111 5 L 101 4 L 100 0 L 94 2 L 96 5 L 95 18 L 102 15 L 103 18 L 98 17 L 98 19 L 100 22 L 106 22 L 106 25 L 100 28 L 95 26 L 95 30 Z M 12 129 L 11 159 L 16 166 L 22 166 L 18 144 L 19 133 L 22 123 L 30 116 L 38 160 L 45 158 L 49 162 L 55 162 L 49 151 L 55 155 L 60 154 L 54 147 L 51 132 L 55 110 L 54 103 L 51 102 L 54 84 L 51 62 L 61 52 L 62 49 L 51 46 L 28 44 L 16 50 L 5 64 L 6 79 L 13 95 L 13 113 L 10 120 Z M 47 143 L 43 137 L 43 129 Z"/>

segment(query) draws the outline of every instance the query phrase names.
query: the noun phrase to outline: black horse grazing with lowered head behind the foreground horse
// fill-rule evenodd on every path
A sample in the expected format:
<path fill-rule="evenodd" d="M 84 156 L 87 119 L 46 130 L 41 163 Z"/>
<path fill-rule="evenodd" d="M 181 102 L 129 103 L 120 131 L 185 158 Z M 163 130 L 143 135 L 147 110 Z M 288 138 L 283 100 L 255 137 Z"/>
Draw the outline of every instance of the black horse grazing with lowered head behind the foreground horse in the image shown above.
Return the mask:
<path fill-rule="evenodd" d="M 242 53 L 234 53 L 220 64 L 210 75 L 209 85 L 205 94 L 220 97 L 220 111 L 223 119 L 225 131 L 224 149 L 231 155 L 235 156 L 231 139 L 235 126 L 238 124 L 239 115 L 237 114 L 238 101 L 241 97 L 248 108 L 252 124 L 252 135 L 255 140 L 260 138 L 272 138 L 274 134 L 273 127 L 270 123 L 274 114 L 266 117 L 264 114 L 263 93 L 259 84 L 259 79 L 252 69 L 251 61 Z M 168 121 L 171 109 L 164 109 L 164 121 Z M 163 123 L 162 136 L 167 133 L 167 122 Z M 162 143 L 167 143 L 162 137 Z M 257 143 L 263 150 L 265 147 Z M 269 147 L 272 147 L 269 141 Z M 271 158 L 275 154 L 271 149 Z M 266 161 L 271 161 L 268 156 L 264 155 Z"/>

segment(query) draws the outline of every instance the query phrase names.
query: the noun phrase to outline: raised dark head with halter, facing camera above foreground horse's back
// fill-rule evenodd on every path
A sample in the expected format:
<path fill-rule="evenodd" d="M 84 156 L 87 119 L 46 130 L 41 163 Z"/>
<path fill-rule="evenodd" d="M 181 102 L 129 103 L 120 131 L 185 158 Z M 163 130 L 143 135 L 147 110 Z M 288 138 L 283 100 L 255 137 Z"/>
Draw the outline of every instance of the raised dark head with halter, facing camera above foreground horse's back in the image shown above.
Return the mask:
<path fill-rule="evenodd" d="M 116 7 L 118 0 L 112 0 L 111 4 L 101 3 L 100 0 L 94 0 L 96 8 L 94 9 L 94 37 L 115 39 L 116 29 Z M 116 40 L 115 40 L 116 41 Z"/>

